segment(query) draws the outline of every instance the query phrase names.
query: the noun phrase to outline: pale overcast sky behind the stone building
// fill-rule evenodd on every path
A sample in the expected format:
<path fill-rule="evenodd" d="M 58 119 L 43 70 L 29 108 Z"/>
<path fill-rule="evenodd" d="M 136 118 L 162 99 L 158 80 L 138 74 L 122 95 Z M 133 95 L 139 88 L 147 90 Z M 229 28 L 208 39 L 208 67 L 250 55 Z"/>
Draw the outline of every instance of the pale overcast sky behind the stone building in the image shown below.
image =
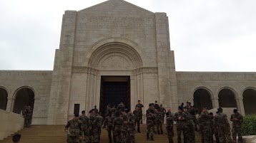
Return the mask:
<path fill-rule="evenodd" d="M 65 10 L 104 0 L 0 0 L 0 70 L 52 70 Z M 127 0 L 169 16 L 177 71 L 256 71 L 255 0 Z"/>

